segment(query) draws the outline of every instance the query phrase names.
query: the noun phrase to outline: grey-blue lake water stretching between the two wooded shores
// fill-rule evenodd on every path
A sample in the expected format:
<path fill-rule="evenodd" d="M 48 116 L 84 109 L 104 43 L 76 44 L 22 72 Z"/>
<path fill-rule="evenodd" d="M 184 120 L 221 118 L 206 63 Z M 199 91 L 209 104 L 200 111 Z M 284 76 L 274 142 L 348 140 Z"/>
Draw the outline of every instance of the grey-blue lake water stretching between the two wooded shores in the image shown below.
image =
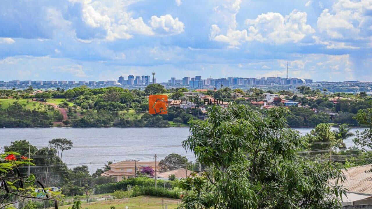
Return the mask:
<path fill-rule="evenodd" d="M 307 134 L 311 128 L 296 130 Z M 363 129 L 352 129 L 354 133 L 356 130 Z M 70 168 L 87 165 L 94 172 L 107 161 L 154 161 L 155 154 L 157 160 L 177 153 L 194 161 L 193 154 L 182 147 L 187 136 L 189 128 L 0 128 L 0 146 L 27 139 L 32 145 L 46 147 L 53 138 L 67 138 L 74 147 L 63 153 L 62 160 Z M 352 138 L 344 142 L 353 146 Z"/>

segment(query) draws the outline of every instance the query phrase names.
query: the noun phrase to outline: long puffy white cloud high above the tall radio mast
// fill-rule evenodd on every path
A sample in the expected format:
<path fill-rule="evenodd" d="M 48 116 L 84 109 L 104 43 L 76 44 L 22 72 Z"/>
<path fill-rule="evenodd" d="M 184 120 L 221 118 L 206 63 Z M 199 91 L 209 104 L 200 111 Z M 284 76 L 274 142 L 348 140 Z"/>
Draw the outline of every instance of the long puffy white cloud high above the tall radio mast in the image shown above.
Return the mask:
<path fill-rule="evenodd" d="M 209 38 L 214 41 L 228 42 L 231 46 L 253 40 L 272 44 L 295 43 L 315 32 L 306 22 L 306 12 L 294 10 L 286 16 L 269 12 L 257 16 L 256 19 L 247 19 L 247 29 L 228 29 L 226 35 L 219 34 L 221 30 L 218 25 L 212 25 Z"/>

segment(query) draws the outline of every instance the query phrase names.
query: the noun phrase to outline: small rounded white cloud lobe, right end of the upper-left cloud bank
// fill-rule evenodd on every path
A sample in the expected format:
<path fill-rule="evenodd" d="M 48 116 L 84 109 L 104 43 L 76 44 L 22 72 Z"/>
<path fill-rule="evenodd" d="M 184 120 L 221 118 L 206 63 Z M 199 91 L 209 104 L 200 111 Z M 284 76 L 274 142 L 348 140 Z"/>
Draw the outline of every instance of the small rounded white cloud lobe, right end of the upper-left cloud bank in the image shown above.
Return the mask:
<path fill-rule="evenodd" d="M 185 24 L 178 20 L 174 19 L 171 15 L 163 15 L 160 17 L 152 16 L 150 20 L 151 27 L 158 33 L 167 33 L 167 34 L 178 34 L 182 33 L 185 28 Z"/>

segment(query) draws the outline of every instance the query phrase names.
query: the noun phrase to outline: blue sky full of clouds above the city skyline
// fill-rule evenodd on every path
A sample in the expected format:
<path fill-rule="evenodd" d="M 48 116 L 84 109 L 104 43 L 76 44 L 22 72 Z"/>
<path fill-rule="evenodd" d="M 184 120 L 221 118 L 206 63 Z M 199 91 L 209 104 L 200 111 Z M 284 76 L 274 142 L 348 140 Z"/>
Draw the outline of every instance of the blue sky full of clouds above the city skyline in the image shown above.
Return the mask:
<path fill-rule="evenodd" d="M 2 0 L 0 80 L 372 81 L 372 0 Z"/>

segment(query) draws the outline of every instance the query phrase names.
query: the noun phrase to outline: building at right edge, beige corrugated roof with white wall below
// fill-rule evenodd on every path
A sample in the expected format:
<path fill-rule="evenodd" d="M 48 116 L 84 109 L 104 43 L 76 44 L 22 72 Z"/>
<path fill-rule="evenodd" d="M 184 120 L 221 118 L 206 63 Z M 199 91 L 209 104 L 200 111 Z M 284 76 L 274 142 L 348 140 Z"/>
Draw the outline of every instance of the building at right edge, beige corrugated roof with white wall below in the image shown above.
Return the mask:
<path fill-rule="evenodd" d="M 346 180 L 341 183 L 347 195 L 342 196 L 342 205 L 371 205 L 372 204 L 372 173 L 365 172 L 371 169 L 371 164 L 342 170 Z M 330 183 L 334 183 L 331 180 Z"/>

